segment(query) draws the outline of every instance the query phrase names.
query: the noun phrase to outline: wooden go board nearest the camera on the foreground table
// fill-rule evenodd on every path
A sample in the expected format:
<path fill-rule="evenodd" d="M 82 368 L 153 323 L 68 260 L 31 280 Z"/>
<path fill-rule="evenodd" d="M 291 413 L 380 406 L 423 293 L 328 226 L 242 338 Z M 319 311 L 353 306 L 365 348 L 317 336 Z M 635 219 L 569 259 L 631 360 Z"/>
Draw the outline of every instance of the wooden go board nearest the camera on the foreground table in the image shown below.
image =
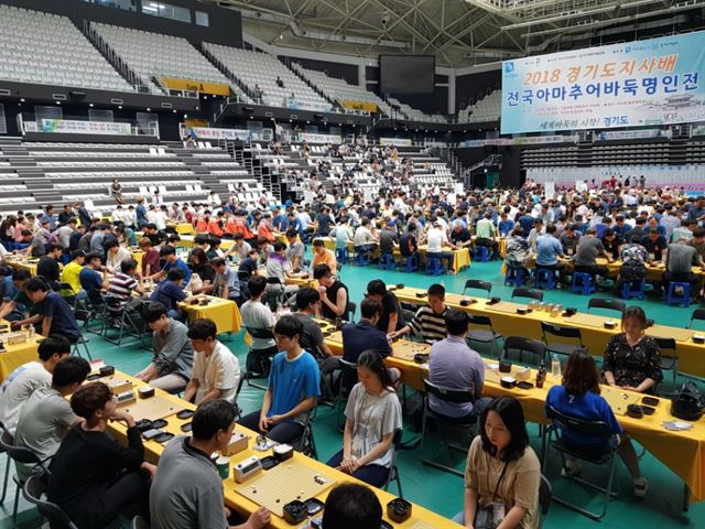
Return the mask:
<path fill-rule="evenodd" d="M 316 478 L 324 483 L 318 483 Z M 305 501 L 313 498 L 335 483 L 334 478 L 292 458 L 269 471 L 262 471 L 245 483 L 236 483 L 235 492 L 282 517 L 284 505 L 294 499 Z"/>

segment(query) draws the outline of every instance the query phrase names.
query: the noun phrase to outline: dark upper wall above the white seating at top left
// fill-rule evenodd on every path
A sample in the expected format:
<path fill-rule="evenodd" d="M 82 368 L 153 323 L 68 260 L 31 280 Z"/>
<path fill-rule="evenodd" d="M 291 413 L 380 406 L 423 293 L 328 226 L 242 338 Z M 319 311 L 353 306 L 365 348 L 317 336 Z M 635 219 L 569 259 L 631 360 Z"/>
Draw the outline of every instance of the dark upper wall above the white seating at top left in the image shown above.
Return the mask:
<path fill-rule="evenodd" d="M 17 6 L 25 9 L 46 11 L 70 18 L 83 29 L 84 20 L 91 20 L 112 25 L 123 25 L 137 30 L 164 33 L 181 36 L 198 45 L 203 41 L 214 42 L 234 47 L 242 47 L 242 20 L 238 11 L 218 8 L 192 0 L 169 0 L 169 3 L 188 8 L 193 11 L 208 13 L 209 26 L 188 24 L 176 20 L 142 14 L 141 1 L 137 0 L 138 12 L 124 11 L 116 8 L 88 3 L 84 0 L 0 0 L 0 3 Z"/>

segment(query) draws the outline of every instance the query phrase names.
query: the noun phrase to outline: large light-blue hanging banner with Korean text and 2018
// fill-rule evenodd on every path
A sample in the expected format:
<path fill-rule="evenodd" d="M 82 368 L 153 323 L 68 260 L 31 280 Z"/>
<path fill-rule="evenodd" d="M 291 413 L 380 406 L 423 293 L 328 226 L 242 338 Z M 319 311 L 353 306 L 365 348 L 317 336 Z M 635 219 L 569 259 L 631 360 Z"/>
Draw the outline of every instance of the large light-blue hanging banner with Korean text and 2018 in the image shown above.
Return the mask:
<path fill-rule="evenodd" d="M 502 63 L 501 133 L 705 119 L 705 32 Z"/>

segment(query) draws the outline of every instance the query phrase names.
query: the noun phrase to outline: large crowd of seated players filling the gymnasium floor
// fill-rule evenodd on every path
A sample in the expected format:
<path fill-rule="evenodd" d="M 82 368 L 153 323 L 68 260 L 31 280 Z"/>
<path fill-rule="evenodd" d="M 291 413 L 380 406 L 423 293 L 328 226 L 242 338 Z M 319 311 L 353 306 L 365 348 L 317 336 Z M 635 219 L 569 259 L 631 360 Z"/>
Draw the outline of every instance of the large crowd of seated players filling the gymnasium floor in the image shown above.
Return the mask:
<path fill-rule="evenodd" d="M 687 198 L 677 190 L 622 188 L 619 182 L 583 192 L 558 190 L 554 197 L 544 196 L 531 183 L 520 190 L 440 191 L 432 196 L 393 185 L 393 179 L 384 181 L 373 201 L 364 201 L 345 186 L 332 193 L 322 187 L 311 204 L 284 204 L 276 209 L 248 208 L 234 201 L 186 204 L 165 207 L 166 213 L 180 215 L 161 218 L 161 206 L 148 208 L 140 202 L 133 219 L 124 216 L 112 224 L 90 215 L 85 219 L 72 206 L 64 208 L 61 219 L 54 218 L 50 207 L 39 218 L 18 214 L 4 219 L 0 238 L 7 242 L 6 251 L 28 252 L 39 261 L 35 276 L 23 268 L 0 267 L 0 317 L 15 325 L 33 324 L 46 339 L 39 347 L 37 361 L 4 380 L 0 420 L 15 433 L 18 443 L 42 457 L 54 456 L 50 498 L 82 529 L 105 527 L 130 509 L 145 518 L 151 515 L 158 528 L 265 527 L 270 515 L 263 509 L 236 521 L 237 515 L 225 507 L 223 490 L 213 486 L 216 475 L 204 454 L 229 440 L 232 400 L 243 371 L 265 376 L 267 390 L 257 411 L 239 423 L 296 444 L 322 397 L 322 377 L 340 368 L 312 319 L 346 319 L 351 293 L 338 277 L 336 253 L 317 237 L 330 238 L 336 249 L 351 242 L 371 255 L 397 245 L 402 256 L 413 255 L 425 242 L 448 266 L 454 259 L 448 250 L 485 246 L 490 257 L 497 257 L 503 244 L 509 267 L 527 267 L 533 260 L 535 267 L 557 271 L 564 283 L 571 270 L 606 277 L 608 270 L 599 258 L 608 263 L 621 261 L 620 281 L 643 280 L 649 262 L 663 261 L 659 288 L 690 282 L 693 295 L 701 293 L 693 267 L 702 266 L 705 255 L 705 197 Z M 150 215 L 154 209 L 159 210 Z M 192 224 L 198 231 L 187 256 L 182 255 L 182 241 L 172 229 L 175 223 Z M 19 246 L 18 230 L 24 241 Z M 223 241 L 229 239 L 232 246 L 223 249 Z M 307 241 L 313 242 L 311 263 L 305 261 Z M 135 260 L 138 251 L 141 263 Z M 9 252 L 3 259 L 15 264 Z M 317 287 L 288 284 L 297 273 L 316 280 Z M 403 418 L 397 396 L 400 373 L 386 368 L 383 359 L 392 352 L 390 338 L 414 335 L 432 346 L 431 382 L 475 391 L 469 406 L 430 399 L 435 413 L 456 420 L 476 418 L 480 424 L 469 446 L 464 505 L 458 506 L 462 512 L 456 519 L 469 526 L 486 512 L 488 503 L 497 501 L 503 506 L 502 527 L 536 527 L 540 469 L 524 414 L 512 398 L 485 397 L 481 358 L 466 339 L 467 315 L 449 309 L 445 288 L 432 284 L 427 306 L 406 321 L 394 293 L 382 280 L 370 279 L 360 302 L 361 317 L 341 327 L 343 359 L 356 367 L 345 371 L 346 422 L 328 464 L 373 486 L 389 479 L 392 439 Z M 156 282 L 153 290 L 152 281 Z M 252 333 L 247 366 L 241 368 L 217 339 L 213 321 L 187 322 L 183 303 L 206 294 L 236 302 L 243 326 L 262 332 Z M 116 408 L 100 382 L 82 386 L 88 375 L 86 361 L 66 358 L 82 335 L 76 304 L 97 306 L 108 295 L 118 296 L 126 306 L 141 299 L 140 317 L 152 331 L 152 358 L 137 378 L 166 391 L 183 391 L 198 406 L 193 436 L 172 441 L 156 467 L 144 461 L 134 419 Z M 271 303 L 272 299 L 276 302 Z M 297 313 L 278 314 L 280 304 Z M 633 479 L 634 495 L 643 497 L 649 484 L 629 439 L 599 396 L 597 381 L 601 376 L 609 386 L 655 392 L 662 379 L 660 352 L 658 343 L 644 334 L 647 319 L 641 309 L 627 309 L 621 325 L 622 332 L 612 336 L 604 352 L 592 352 L 604 356 L 601 374 L 587 353 L 571 355 L 563 384 L 549 391 L 546 415 L 556 410 L 608 423 L 614 434 L 610 442 Z M 107 435 L 109 421 L 128 427 L 127 446 Z M 592 447 L 590 439 L 570 433 L 566 439 Z M 80 457 L 85 463 L 77 463 Z M 21 479 L 26 479 L 28 471 L 21 471 Z M 577 475 L 581 468 L 568 460 L 563 472 Z M 183 479 L 184 475 L 192 479 Z M 497 489 L 488 486 L 502 479 Z M 356 516 L 369 518 L 349 527 L 368 527 L 365 523 L 377 515 L 366 490 L 340 487 L 339 494 L 349 501 L 365 504 L 356 512 L 346 508 L 337 492 L 330 493 L 325 516 L 343 517 L 330 522 L 334 527 L 348 527 L 345 523 L 352 523 L 349 520 Z M 175 501 L 187 508 L 177 508 Z M 343 514 L 336 515 L 336 508 Z"/>

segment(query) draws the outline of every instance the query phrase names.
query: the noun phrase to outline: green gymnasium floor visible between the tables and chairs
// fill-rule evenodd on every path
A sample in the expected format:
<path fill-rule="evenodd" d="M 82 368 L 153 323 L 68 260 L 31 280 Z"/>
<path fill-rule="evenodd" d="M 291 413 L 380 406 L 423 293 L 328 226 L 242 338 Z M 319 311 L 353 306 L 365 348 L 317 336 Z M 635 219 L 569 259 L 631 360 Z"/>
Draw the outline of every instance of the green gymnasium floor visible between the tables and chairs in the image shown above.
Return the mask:
<path fill-rule="evenodd" d="M 341 279 L 349 288 L 351 300 L 357 302 L 358 305 L 368 281 L 376 278 L 381 278 L 388 283 L 403 282 L 417 288 L 426 288 L 433 282 L 443 281 L 446 289 L 453 292 L 462 292 L 467 279 L 482 279 L 494 283 L 492 295 L 500 295 L 502 299 L 508 300 L 511 294 L 511 288 L 502 285 L 503 277 L 498 261 L 474 263 L 469 270 L 465 270 L 458 276 L 441 276 L 437 278 L 419 273 L 408 274 L 404 272 L 381 271 L 373 266 L 366 268 L 343 267 Z M 601 293 L 599 295 L 610 296 L 611 294 Z M 587 298 L 565 291 L 546 292 L 545 300 L 576 306 L 578 310 L 586 310 L 587 307 Z M 691 309 L 669 307 L 652 300 L 637 303 L 640 303 L 647 311 L 648 316 L 653 317 L 658 323 L 674 326 L 686 325 L 690 314 L 695 307 L 694 305 Z M 107 364 L 112 364 L 129 374 L 140 370 L 150 359 L 148 352 L 137 346 L 130 346 L 127 342 L 120 347 L 116 347 L 93 334 L 88 334 L 88 336 L 94 358 L 104 358 Z M 243 366 L 247 349 L 241 334 L 232 336 L 231 342 L 228 341 L 227 336 L 221 336 L 221 338 L 238 356 L 240 366 Z M 261 390 L 245 385 L 240 395 L 240 406 L 246 412 L 253 411 L 259 408 L 261 396 Z M 410 402 L 414 401 L 419 402 L 419 399 L 410 398 Z M 314 422 L 314 433 L 318 456 L 322 461 L 327 461 L 341 446 L 341 434 L 336 429 L 336 420 L 337 415 L 334 410 L 327 407 L 318 408 Z M 412 427 L 413 421 L 406 419 L 404 440 L 415 436 Z M 538 436 L 538 428 L 534 424 L 530 424 L 529 429 L 533 449 L 540 454 L 541 439 Z M 437 439 L 433 435 L 430 439 L 431 442 L 427 442 L 426 453 L 433 452 L 437 446 Z M 442 454 L 445 452 L 444 449 L 436 450 L 435 456 L 443 456 Z M 460 453 L 454 454 L 453 460 L 449 461 L 453 461 L 460 469 L 464 467 L 464 456 Z M 4 472 L 4 457 L 1 458 L 1 465 L 0 471 Z M 399 455 L 399 465 L 404 496 L 408 499 L 448 517 L 462 509 L 463 479 L 460 477 L 422 465 L 419 449 L 402 451 Z M 617 499 L 610 503 L 607 516 L 601 521 L 603 527 L 629 529 L 634 527 L 644 529 L 705 527 L 705 503 L 691 506 L 686 515 L 681 511 L 683 482 L 675 474 L 648 453 L 641 458 L 641 468 L 642 474 L 650 481 L 651 489 L 646 499 L 638 500 L 632 496 L 631 479 L 625 466 L 621 462 L 617 463 L 616 487 L 620 494 Z M 584 472 L 588 477 L 606 477 L 604 468 L 586 468 Z M 596 497 L 592 492 L 587 492 L 583 487 L 561 481 L 557 477 L 557 465 L 554 466 L 551 473 L 551 481 L 554 487 L 561 488 L 562 496 L 570 496 L 574 501 L 583 503 L 590 509 L 599 509 L 601 497 Z M 392 485 L 391 492 L 395 493 L 394 485 Z M 2 511 L 0 511 L 0 528 L 2 529 L 12 527 L 13 494 L 14 488 L 11 486 L 8 498 L 2 506 Z M 20 527 L 39 527 L 39 516 L 24 500 L 20 503 Z M 553 503 L 544 527 L 547 529 L 564 527 L 582 529 L 599 527 L 599 525 Z"/>

